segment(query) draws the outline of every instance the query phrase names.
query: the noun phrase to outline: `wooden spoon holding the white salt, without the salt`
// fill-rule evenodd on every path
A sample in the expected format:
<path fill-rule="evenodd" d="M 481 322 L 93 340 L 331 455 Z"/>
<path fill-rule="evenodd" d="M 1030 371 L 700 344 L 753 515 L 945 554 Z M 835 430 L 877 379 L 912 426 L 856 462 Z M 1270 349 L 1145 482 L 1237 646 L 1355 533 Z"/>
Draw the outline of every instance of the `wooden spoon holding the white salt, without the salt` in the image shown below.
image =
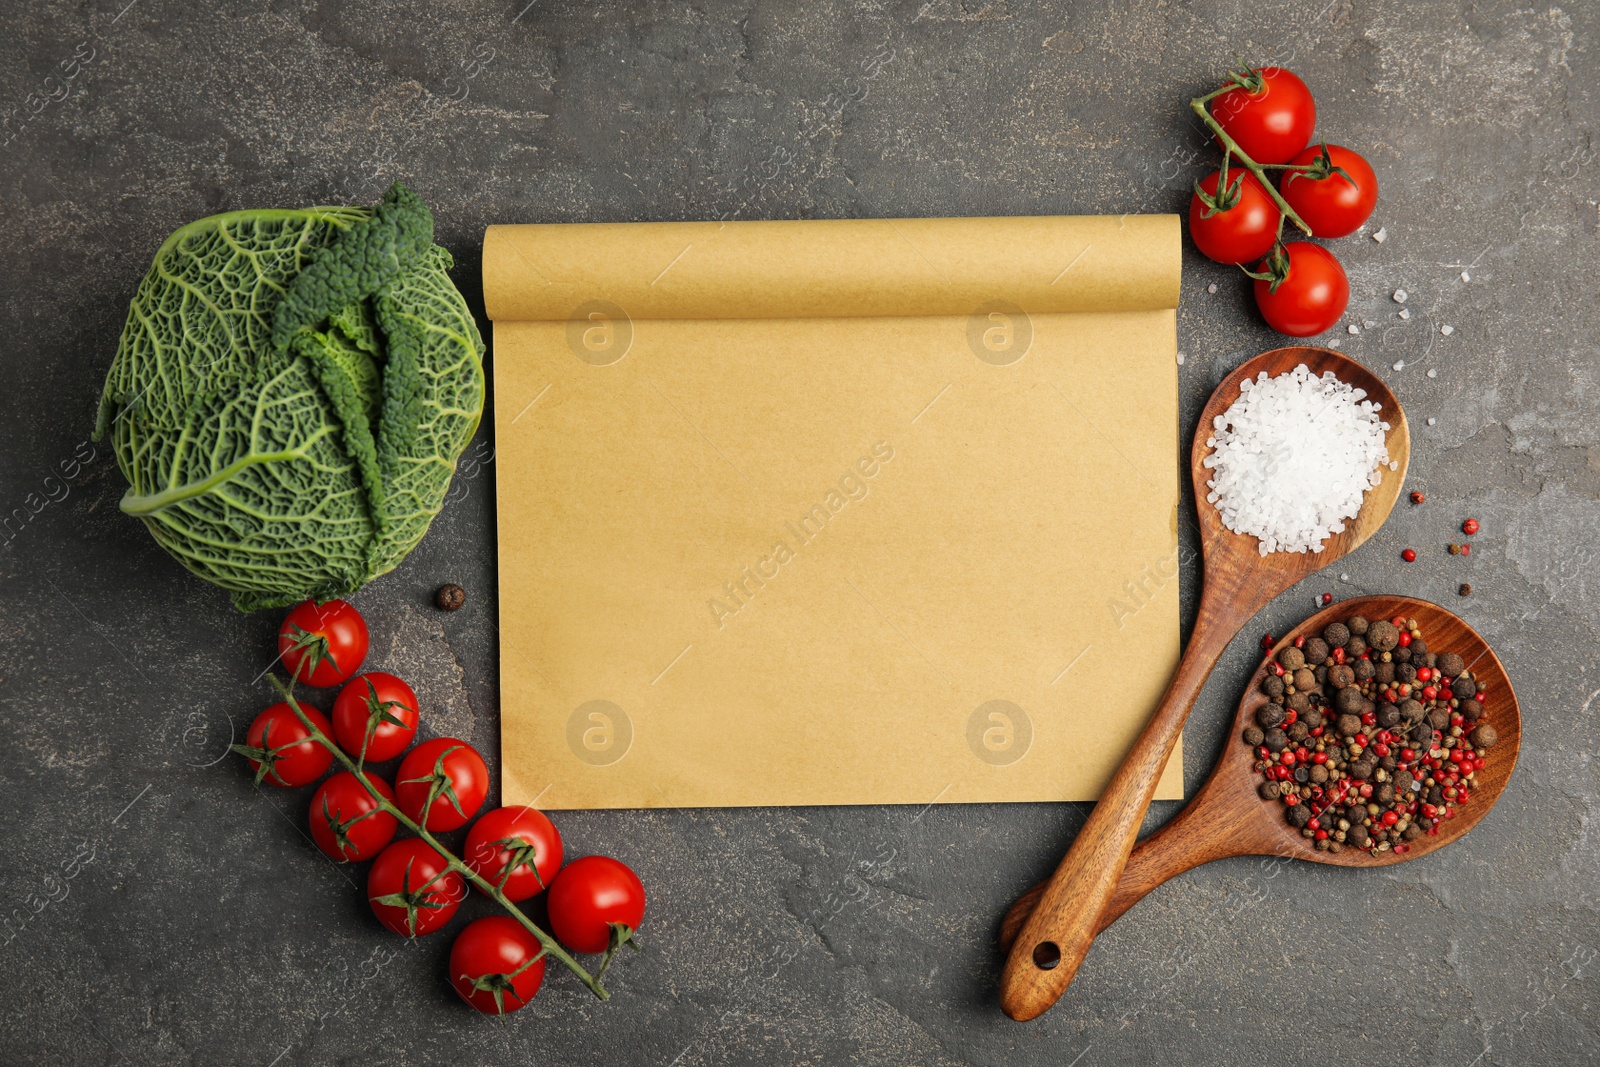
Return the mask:
<path fill-rule="evenodd" d="M 1330 536 L 1322 552 L 1261 555 L 1254 537 L 1229 531 L 1216 507 L 1206 502 L 1210 470 L 1202 461 L 1210 454 L 1206 438 L 1211 435 L 1213 419 L 1238 400 L 1238 384 L 1262 371 L 1267 378 L 1275 378 L 1299 363 L 1314 374 L 1333 371 L 1341 381 L 1365 389 L 1370 400 L 1382 405 L 1381 418 L 1389 422 L 1389 458 L 1398 467 L 1381 469 L 1382 482 L 1366 493 L 1360 514 L 1346 523 L 1344 533 Z M 1072 841 L 1070 851 L 1050 878 L 1034 913 L 1011 947 L 1000 974 L 1000 1006 L 1008 1016 L 1024 1021 L 1042 1014 L 1056 1003 L 1072 982 L 1072 976 L 1078 973 L 1099 931 L 1101 913 L 1122 880 L 1128 853 L 1139 835 L 1139 824 L 1144 822 L 1166 757 L 1178 744 L 1184 720 L 1189 718 L 1189 710 L 1222 649 L 1269 600 L 1354 550 L 1382 526 L 1389 509 L 1400 496 L 1410 459 L 1411 435 L 1394 394 L 1365 366 L 1330 349 L 1291 347 L 1262 352 L 1234 368 L 1211 394 L 1200 413 L 1198 429 L 1189 450 L 1200 544 L 1205 552 L 1200 613 L 1166 696 L 1162 697 L 1122 766 L 1112 774 L 1088 822 Z"/>

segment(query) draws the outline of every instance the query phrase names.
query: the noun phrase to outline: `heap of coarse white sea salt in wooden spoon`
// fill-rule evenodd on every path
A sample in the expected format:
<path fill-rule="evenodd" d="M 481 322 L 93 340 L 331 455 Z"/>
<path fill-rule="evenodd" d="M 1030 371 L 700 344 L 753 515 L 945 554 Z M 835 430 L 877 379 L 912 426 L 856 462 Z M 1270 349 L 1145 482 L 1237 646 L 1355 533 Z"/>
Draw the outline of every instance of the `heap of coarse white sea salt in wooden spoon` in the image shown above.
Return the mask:
<path fill-rule="evenodd" d="M 1211 421 L 1206 501 L 1234 533 L 1269 552 L 1317 552 L 1362 510 L 1389 464 L 1382 405 L 1333 371 L 1301 363 L 1238 384 L 1238 400 Z"/>

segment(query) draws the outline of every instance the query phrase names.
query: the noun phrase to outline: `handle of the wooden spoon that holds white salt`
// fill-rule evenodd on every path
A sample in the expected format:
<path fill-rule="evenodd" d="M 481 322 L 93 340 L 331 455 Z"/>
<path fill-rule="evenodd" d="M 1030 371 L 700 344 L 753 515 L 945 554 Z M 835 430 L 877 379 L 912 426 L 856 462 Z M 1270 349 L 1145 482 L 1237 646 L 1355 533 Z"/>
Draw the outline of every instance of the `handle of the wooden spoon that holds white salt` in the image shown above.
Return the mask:
<path fill-rule="evenodd" d="M 1224 584 L 1230 589 L 1224 590 Z M 1189 648 L 1160 707 L 1112 774 L 1011 947 L 1000 974 L 1000 1006 L 1013 1019 L 1034 1019 L 1056 1003 L 1099 933 L 1184 720 L 1227 641 L 1259 606 L 1251 601 L 1262 590 L 1234 585 L 1206 582 Z"/>

